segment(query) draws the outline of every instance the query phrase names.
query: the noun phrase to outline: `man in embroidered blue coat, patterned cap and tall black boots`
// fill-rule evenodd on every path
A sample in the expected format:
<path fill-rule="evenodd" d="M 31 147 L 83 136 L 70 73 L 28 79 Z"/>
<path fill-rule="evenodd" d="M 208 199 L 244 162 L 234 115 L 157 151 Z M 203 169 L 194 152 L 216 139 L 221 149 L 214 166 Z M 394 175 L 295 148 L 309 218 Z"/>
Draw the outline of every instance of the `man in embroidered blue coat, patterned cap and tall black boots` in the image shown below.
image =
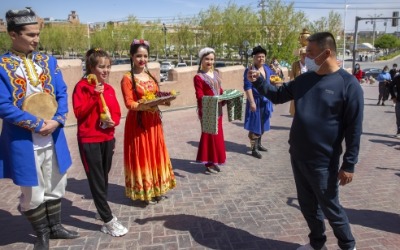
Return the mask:
<path fill-rule="evenodd" d="M 35 52 L 39 25 L 29 9 L 6 13 L 11 50 L 0 56 L 0 178 L 20 186 L 20 209 L 37 235 L 34 249 L 49 249 L 51 239 L 73 239 L 61 225 L 61 198 L 71 166 L 63 127 L 68 112 L 67 86 L 55 58 Z M 55 98 L 51 119 L 22 110 L 35 93 Z"/>

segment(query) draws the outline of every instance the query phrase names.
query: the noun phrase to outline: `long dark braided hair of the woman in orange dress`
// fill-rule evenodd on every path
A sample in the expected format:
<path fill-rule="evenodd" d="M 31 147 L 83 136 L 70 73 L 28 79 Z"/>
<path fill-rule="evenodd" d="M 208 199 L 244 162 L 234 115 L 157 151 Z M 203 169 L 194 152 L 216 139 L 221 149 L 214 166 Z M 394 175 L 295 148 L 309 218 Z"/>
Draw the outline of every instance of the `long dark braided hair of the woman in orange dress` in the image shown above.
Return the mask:
<path fill-rule="evenodd" d="M 150 55 L 150 46 L 149 42 L 143 40 L 143 39 L 134 39 L 133 42 L 131 43 L 129 54 L 130 54 L 130 61 L 131 61 L 131 78 L 132 78 L 132 85 L 133 85 L 133 91 L 135 93 L 136 99 L 139 100 L 139 94 L 137 92 L 137 86 L 136 86 L 136 80 L 135 80 L 135 73 L 134 73 L 134 63 L 133 63 L 133 57 L 137 53 L 139 48 L 144 48 L 147 50 L 147 53 Z M 157 79 L 150 74 L 149 69 L 147 68 L 147 65 L 145 66 L 144 72 L 153 79 L 153 81 L 157 84 L 157 87 L 159 88 L 158 81 Z M 143 122 L 142 122 L 142 112 L 137 112 L 137 121 L 138 124 L 141 128 L 144 129 Z"/>

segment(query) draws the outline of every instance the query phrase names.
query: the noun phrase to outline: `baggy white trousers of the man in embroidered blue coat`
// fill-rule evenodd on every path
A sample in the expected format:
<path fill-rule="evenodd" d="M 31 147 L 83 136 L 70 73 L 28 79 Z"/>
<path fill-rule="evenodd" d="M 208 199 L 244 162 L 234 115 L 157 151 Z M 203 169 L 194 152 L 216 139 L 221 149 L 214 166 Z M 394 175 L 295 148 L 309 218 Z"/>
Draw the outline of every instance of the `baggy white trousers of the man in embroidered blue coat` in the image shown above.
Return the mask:
<path fill-rule="evenodd" d="M 35 209 L 46 201 L 62 198 L 67 186 L 67 175 L 61 175 L 58 170 L 53 146 L 35 150 L 34 153 L 38 185 L 21 186 L 20 205 L 23 212 Z"/>

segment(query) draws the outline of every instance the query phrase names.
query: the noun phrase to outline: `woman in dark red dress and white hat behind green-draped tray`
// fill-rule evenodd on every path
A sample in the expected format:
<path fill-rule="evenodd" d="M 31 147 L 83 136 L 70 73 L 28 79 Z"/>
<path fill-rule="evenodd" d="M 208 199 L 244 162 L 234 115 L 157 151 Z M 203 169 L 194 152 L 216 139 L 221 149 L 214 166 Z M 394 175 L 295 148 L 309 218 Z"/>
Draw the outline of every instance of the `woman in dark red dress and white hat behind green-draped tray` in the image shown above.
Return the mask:
<path fill-rule="evenodd" d="M 221 79 L 218 71 L 214 69 L 215 51 L 204 48 L 199 52 L 200 64 L 194 76 L 197 109 L 200 121 L 203 119 L 202 99 L 204 96 L 218 96 L 222 94 Z M 222 102 L 218 103 L 218 132 L 217 134 L 201 133 L 197 162 L 204 163 L 206 174 L 220 172 L 219 165 L 225 164 L 226 152 L 224 131 L 222 129 Z"/>

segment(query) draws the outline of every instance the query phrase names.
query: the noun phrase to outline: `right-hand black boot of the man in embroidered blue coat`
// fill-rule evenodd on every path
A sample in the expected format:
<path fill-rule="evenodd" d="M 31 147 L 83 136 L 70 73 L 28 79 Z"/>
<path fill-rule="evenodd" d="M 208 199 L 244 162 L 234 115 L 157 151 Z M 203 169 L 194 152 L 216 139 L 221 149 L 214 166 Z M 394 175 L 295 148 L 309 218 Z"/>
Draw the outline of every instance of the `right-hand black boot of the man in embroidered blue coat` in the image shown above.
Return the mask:
<path fill-rule="evenodd" d="M 46 202 L 47 218 L 50 226 L 50 239 L 75 239 L 79 233 L 61 225 L 61 199 Z"/>

